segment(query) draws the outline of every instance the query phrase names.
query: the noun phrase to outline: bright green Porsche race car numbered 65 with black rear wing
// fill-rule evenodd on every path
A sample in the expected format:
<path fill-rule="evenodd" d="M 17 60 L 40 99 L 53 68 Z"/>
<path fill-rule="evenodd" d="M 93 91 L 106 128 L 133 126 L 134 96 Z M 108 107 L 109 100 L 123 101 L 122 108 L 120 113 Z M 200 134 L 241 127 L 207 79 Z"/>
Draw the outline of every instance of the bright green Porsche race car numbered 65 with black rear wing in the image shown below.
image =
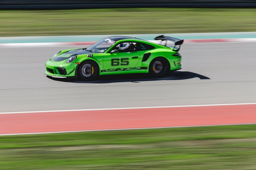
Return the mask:
<path fill-rule="evenodd" d="M 181 69 L 178 51 L 184 40 L 163 35 L 155 40 L 160 40 L 160 44 L 135 37 L 110 36 L 88 48 L 62 50 L 45 63 L 45 75 L 84 80 L 126 73 L 163 77 L 169 71 Z M 162 41 L 165 41 L 164 45 L 161 45 Z M 174 42 L 175 46 L 167 46 L 167 41 Z"/>

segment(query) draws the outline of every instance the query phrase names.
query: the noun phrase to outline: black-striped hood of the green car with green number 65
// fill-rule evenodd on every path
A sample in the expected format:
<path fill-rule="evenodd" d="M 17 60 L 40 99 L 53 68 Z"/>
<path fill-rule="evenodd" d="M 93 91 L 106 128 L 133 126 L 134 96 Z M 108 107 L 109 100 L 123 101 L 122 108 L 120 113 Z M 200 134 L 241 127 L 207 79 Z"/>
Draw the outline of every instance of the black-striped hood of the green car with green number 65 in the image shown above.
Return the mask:
<path fill-rule="evenodd" d="M 59 61 L 67 60 L 74 55 L 92 54 L 92 53 L 94 53 L 94 52 L 86 51 L 85 49 L 70 50 L 70 51 L 63 52 L 62 54 L 53 57 L 52 61 L 59 62 Z"/>

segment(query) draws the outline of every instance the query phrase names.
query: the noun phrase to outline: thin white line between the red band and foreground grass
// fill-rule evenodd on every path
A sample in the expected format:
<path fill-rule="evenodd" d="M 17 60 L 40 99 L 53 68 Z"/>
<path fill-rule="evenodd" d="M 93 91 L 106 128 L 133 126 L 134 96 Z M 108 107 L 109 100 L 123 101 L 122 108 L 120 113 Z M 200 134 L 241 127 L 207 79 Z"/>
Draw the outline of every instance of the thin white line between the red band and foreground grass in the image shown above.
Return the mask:
<path fill-rule="evenodd" d="M 164 128 L 186 128 L 186 127 L 204 127 L 204 126 L 229 126 L 229 125 L 248 125 L 248 124 L 256 124 L 256 123 L 217 124 L 217 125 L 197 125 L 197 126 L 171 126 L 171 127 L 153 127 L 153 128 L 129 128 L 129 129 L 106 129 L 106 130 L 65 131 L 65 132 L 40 132 L 40 133 L 23 133 L 23 134 L 0 134 L 0 136 L 10 136 L 10 135 L 40 135 L 40 134 L 60 134 L 60 133 L 97 132 L 97 131 L 143 130 L 143 129 L 164 129 Z"/>

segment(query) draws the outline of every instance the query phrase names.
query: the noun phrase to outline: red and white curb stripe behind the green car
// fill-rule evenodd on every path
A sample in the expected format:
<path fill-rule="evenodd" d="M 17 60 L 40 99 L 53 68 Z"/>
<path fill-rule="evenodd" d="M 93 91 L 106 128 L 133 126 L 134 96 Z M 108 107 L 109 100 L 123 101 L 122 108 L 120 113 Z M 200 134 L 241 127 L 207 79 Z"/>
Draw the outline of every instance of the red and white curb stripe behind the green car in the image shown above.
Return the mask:
<path fill-rule="evenodd" d="M 159 42 L 149 40 L 150 42 Z M 96 41 L 95 41 L 96 42 Z M 84 46 L 95 42 L 49 42 L 49 43 L 2 43 L 0 47 L 53 47 L 53 46 Z M 256 38 L 230 38 L 230 39 L 185 39 L 184 43 L 224 43 L 224 42 L 256 42 Z"/>

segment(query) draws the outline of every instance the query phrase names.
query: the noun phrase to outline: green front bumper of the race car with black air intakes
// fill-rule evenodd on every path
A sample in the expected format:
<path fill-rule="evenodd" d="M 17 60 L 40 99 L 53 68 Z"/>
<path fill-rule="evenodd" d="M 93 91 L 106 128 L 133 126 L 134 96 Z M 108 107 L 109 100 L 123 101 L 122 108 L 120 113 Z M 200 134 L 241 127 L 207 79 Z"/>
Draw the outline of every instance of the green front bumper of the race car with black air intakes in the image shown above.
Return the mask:
<path fill-rule="evenodd" d="M 72 78 L 77 77 L 77 67 L 76 63 L 63 63 L 61 62 L 53 62 L 51 60 L 45 63 L 46 71 L 45 75 L 51 76 L 54 78 Z"/>

